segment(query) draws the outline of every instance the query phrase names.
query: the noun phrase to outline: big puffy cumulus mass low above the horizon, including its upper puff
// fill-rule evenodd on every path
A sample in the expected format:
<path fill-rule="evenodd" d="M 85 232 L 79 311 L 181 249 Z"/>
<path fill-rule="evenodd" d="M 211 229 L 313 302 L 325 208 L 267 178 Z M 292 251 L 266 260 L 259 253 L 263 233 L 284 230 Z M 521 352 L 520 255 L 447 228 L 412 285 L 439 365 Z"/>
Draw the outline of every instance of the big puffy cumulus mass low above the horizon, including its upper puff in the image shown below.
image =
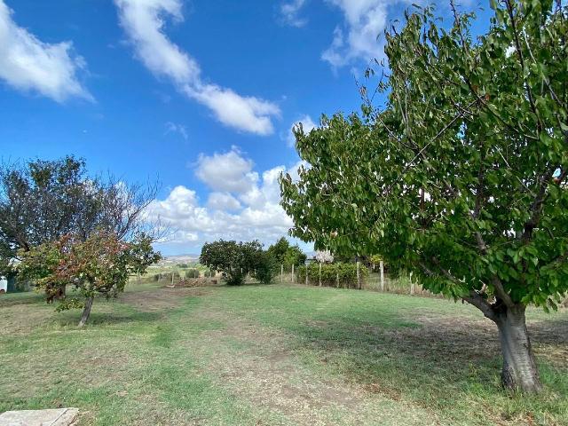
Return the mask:
<path fill-rule="evenodd" d="M 238 158 L 237 158 L 238 157 Z M 209 187 L 219 188 L 209 193 L 208 201 L 201 205 L 196 193 L 185 187 L 177 186 L 163 200 L 154 201 L 149 207 L 150 217 L 160 217 L 162 223 L 175 230 L 170 243 L 198 247 L 205 241 L 219 238 L 238 241 L 258 239 L 272 243 L 293 226 L 293 221 L 280 207 L 280 172 L 297 176 L 302 163 L 290 168 L 277 166 L 258 173 L 252 170 L 253 163 L 233 148 L 225 154 L 200 156 L 196 163 L 196 173 L 203 172 L 204 181 Z M 214 165 L 225 177 L 211 179 Z M 227 167 L 233 165 L 238 173 L 227 174 Z M 248 175 L 256 178 L 246 180 Z M 199 176 L 199 175 L 198 175 Z M 245 183 L 228 187 L 226 179 L 245 179 Z M 200 177 L 201 178 L 201 177 Z M 221 183 L 219 183 L 221 182 Z"/>

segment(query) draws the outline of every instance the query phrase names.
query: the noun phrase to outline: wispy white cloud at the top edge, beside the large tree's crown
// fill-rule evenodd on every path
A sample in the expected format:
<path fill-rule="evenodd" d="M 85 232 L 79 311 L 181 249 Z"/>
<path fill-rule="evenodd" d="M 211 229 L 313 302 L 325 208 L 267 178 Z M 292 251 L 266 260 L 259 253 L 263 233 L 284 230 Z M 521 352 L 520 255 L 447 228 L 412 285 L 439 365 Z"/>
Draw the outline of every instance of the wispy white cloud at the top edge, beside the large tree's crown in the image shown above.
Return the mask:
<path fill-rule="evenodd" d="M 337 27 L 334 39 L 321 58 L 333 67 L 342 67 L 353 59 L 383 57 L 383 43 L 377 36 L 383 34 L 390 5 L 397 0 L 328 0 L 343 12 L 343 28 Z M 404 2 L 403 2 L 404 3 Z"/>

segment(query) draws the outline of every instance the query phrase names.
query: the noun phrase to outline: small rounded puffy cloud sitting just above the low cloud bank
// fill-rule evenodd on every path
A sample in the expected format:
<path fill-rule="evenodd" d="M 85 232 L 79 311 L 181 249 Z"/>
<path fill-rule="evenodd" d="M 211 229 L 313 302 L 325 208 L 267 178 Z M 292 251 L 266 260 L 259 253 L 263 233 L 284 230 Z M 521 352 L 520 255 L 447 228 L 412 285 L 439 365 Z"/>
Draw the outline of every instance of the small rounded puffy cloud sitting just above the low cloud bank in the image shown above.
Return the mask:
<path fill-rule="evenodd" d="M 214 191 L 246 193 L 256 185 L 253 162 L 242 157 L 237 147 L 225 154 L 200 154 L 195 175 Z"/>

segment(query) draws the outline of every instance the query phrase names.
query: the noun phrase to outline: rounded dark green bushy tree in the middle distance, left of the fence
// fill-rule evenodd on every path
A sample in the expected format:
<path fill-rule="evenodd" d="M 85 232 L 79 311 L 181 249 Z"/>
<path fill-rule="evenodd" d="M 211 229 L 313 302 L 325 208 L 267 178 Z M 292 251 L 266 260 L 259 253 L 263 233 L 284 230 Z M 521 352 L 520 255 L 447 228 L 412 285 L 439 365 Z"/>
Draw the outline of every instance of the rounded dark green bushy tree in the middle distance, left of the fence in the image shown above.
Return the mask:
<path fill-rule="evenodd" d="M 270 282 L 269 256 L 258 241 L 239 242 L 219 240 L 201 248 L 200 262 L 212 270 L 222 272 L 229 286 L 240 286 L 248 272 L 256 273 L 262 282 Z M 256 272 L 255 272 L 256 270 Z"/>

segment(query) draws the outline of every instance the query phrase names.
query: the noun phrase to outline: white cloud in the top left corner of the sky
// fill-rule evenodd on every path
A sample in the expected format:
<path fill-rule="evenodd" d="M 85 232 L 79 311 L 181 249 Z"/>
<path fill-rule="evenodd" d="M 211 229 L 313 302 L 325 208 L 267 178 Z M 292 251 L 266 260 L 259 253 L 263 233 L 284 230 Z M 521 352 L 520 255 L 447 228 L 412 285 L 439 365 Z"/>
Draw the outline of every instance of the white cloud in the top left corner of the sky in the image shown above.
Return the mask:
<path fill-rule="evenodd" d="M 73 54 L 73 43 L 43 43 L 19 27 L 0 0 L 0 79 L 58 102 L 74 97 L 92 100 L 77 79 L 84 67 L 83 58 Z"/>

